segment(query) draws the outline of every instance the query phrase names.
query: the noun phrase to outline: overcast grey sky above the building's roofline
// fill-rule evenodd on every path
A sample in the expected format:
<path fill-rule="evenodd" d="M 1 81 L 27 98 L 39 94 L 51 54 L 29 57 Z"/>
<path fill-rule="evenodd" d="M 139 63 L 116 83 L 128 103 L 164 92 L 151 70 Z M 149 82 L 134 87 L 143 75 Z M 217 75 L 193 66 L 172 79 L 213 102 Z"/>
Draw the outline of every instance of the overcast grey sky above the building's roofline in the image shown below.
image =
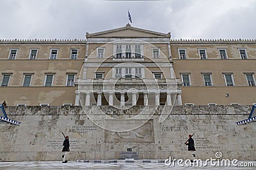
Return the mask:
<path fill-rule="evenodd" d="M 256 0 L 0 0 L 0 39 L 84 39 L 132 26 L 172 39 L 256 39 Z"/>

